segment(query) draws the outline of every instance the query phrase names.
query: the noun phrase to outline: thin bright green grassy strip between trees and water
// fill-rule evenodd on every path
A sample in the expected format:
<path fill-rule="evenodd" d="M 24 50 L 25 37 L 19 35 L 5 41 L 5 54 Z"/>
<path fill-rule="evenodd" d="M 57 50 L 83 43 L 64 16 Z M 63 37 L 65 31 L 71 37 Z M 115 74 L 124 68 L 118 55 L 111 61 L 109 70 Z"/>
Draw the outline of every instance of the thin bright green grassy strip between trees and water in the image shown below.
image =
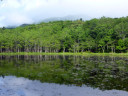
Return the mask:
<path fill-rule="evenodd" d="M 19 53 L 0 53 L 0 55 L 80 55 L 80 56 L 128 56 L 128 53 L 37 53 L 37 52 L 19 52 Z"/>

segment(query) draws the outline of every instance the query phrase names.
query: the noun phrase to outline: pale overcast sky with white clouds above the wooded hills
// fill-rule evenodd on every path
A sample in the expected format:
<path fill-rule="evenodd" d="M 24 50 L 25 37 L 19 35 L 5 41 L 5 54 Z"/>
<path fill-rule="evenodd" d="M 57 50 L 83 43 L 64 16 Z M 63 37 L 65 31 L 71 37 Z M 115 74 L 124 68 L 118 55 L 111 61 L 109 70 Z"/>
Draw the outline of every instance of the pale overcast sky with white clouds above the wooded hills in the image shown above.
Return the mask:
<path fill-rule="evenodd" d="M 0 27 L 81 14 L 92 18 L 128 16 L 128 0 L 3 0 Z"/>

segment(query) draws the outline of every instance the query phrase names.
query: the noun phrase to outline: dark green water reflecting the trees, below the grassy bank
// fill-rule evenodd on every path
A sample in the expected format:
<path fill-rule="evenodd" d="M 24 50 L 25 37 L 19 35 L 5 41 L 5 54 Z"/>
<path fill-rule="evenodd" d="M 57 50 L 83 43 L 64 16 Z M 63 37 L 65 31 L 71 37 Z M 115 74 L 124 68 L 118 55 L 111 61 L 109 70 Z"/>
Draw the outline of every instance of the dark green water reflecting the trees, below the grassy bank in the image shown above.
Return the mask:
<path fill-rule="evenodd" d="M 101 93 L 107 92 L 107 90 L 120 90 L 117 96 L 125 96 L 119 94 L 120 92 L 123 94 L 128 91 L 128 58 L 50 55 L 0 56 L 0 75 L 1 78 L 16 76 L 30 80 L 39 80 L 42 84 L 63 84 L 67 88 L 71 88 L 71 85 L 83 88 L 83 90 L 84 88 L 91 88 L 91 90 L 94 90 L 93 93 L 97 90 L 97 92 Z"/>

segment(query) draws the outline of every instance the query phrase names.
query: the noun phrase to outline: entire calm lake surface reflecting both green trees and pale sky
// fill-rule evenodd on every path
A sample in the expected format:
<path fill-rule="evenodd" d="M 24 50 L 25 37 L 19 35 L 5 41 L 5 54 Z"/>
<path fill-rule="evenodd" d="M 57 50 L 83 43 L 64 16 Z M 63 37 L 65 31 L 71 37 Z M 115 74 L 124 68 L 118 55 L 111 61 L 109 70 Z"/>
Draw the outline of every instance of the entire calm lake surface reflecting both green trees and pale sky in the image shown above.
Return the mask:
<path fill-rule="evenodd" d="M 14 96 L 13 92 L 20 94 L 15 96 L 30 96 L 25 92 L 32 93 L 32 90 L 37 93 L 45 90 L 36 96 L 128 96 L 128 57 L 0 56 L 0 76 L 0 96 Z M 4 87 L 7 84 L 14 88 L 19 84 L 18 88 L 21 88 L 18 91 Z M 28 87 L 22 86 L 25 84 Z M 45 87 L 39 86 L 41 84 Z M 30 85 L 36 88 L 31 89 Z M 55 88 L 49 89 L 50 86 Z M 75 92 L 79 94 L 71 95 Z M 89 92 L 91 95 L 83 95 Z"/>

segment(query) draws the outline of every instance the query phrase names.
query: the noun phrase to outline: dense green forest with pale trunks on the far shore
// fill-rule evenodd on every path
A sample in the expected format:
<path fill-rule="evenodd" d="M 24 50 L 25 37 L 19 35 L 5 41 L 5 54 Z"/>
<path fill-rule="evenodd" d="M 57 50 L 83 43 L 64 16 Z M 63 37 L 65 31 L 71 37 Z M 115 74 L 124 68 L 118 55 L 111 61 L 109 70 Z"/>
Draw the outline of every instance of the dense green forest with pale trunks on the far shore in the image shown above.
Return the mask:
<path fill-rule="evenodd" d="M 0 28 L 0 52 L 128 52 L 128 17 Z"/>

